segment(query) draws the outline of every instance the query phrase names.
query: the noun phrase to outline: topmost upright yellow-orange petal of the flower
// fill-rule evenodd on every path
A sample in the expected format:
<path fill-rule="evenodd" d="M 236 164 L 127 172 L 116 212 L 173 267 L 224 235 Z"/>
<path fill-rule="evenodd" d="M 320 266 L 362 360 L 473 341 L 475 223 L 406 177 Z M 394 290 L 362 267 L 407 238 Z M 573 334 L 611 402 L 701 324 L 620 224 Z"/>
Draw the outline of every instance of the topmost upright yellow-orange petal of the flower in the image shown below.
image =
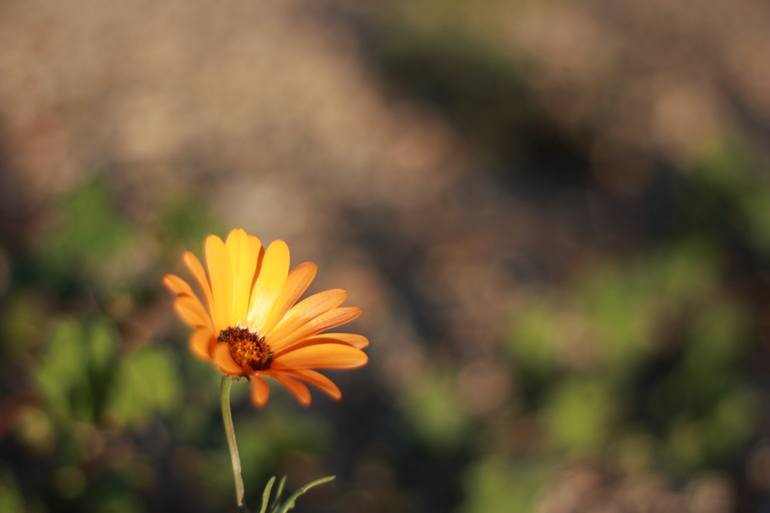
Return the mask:
<path fill-rule="evenodd" d="M 246 326 L 251 282 L 257 269 L 261 246 L 259 239 L 250 238 L 241 228 L 232 230 L 225 242 L 233 276 L 231 317 L 237 326 Z"/>

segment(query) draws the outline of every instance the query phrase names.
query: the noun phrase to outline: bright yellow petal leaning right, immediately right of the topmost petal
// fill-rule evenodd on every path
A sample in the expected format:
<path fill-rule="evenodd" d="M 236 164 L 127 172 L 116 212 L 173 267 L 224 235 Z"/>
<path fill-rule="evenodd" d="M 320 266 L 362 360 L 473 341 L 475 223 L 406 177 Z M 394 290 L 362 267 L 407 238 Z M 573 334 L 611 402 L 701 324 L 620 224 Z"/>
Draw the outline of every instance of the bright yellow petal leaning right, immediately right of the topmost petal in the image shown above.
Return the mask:
<path fill-rule="evenodd" d="M 249 328 L 257 333 L 264 333 L 263 326 L 267 315 L 283 290 L 289 274 L 289 247 L 282 240 L 270 243 L 259 276 L 254 283 L 254 290 L 249 301 Z"/>

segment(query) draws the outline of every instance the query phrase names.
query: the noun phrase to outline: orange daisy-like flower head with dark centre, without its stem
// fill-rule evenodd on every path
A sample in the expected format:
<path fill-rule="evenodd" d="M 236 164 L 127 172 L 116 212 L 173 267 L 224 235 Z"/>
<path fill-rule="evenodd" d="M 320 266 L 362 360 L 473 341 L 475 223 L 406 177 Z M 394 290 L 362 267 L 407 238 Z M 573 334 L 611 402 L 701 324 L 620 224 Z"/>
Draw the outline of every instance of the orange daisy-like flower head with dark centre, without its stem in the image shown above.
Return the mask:
<path fill-rule="evenodd" d="M 342 394 L 329 378 L 314 369 L 352 369 L 366 364 L 369 345 L 363 335 L 322 333 L 361 315 L 358 307 L 340 306 L 342 289 L 313 294 L 297 302 L 315 278 L 317 266 L 304 262 L 289 272 L 289 248 L 282 240 L 265 250 L 260 240 L 235 229 L 222 241 L 209 235 L 204 271 L 187 251 L 184 263 L 198 282 L 208 309 L 190 285 L 167 274 L 164 285 L 176 296 L 174 310 L 194 331 L 190 350 L 211 361 L 227 376 L 248 376 L 251 399 L 267 403 L 269 376 L 310 404 L 313 385 L 334 399 Z"/>

